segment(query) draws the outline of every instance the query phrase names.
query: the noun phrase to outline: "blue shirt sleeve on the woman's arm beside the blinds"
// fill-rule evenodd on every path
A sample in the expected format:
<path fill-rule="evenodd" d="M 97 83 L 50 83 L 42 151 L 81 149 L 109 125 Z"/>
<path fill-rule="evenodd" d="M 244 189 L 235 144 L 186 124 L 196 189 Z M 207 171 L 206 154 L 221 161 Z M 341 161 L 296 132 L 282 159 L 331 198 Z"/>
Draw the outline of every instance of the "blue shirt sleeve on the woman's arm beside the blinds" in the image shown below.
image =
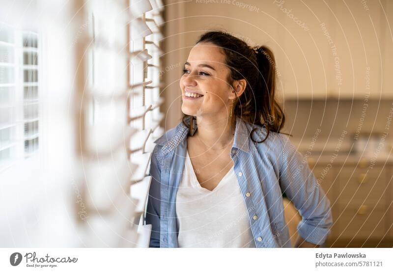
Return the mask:
<path fill-rule="evenodd" d="M 150 159 L 149 175 L 152 177 L 146 207 L 146 224 L 151 224 L 149 247 L 160 247 L 160 195 L 161 169 L 157 160 L 158 145 L 153 149 Z"/>

